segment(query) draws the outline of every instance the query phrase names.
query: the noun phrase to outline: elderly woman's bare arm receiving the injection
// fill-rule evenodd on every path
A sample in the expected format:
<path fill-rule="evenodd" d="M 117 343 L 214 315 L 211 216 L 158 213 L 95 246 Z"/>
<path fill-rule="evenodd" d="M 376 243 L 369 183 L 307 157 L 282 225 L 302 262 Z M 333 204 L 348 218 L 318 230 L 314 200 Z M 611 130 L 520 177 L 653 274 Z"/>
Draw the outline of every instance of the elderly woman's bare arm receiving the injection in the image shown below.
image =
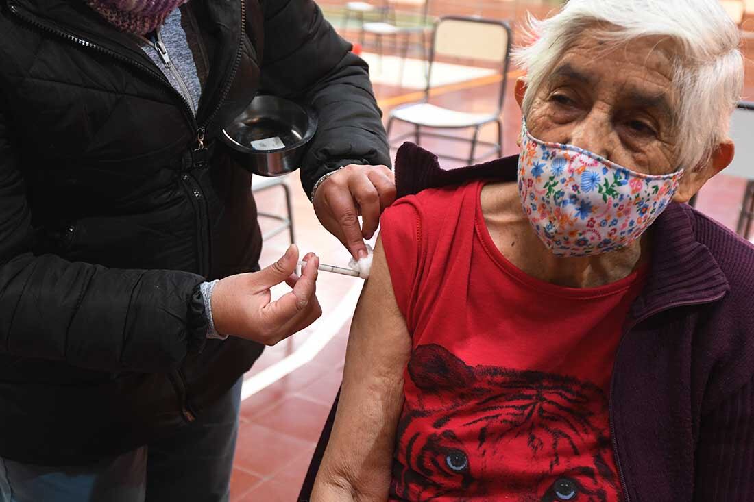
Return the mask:
<path fill-rule="evenodd" d="M 410 353 L 411 337 L 378 240 L 351 324 L 338 412 L 313 502 L 387 498 Z"/>

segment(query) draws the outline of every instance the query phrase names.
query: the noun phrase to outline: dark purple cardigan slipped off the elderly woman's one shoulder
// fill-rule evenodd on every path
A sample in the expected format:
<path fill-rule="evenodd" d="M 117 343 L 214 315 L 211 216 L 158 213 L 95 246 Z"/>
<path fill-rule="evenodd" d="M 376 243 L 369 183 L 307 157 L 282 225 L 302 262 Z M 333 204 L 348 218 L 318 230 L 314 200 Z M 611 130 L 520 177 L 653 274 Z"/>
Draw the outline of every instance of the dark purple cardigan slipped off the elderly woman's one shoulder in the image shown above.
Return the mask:
<path fill-rule="evenodd" d="M 515 181 L 518 157 L 443 170 L 411 143 L 398 197 Z M 624 502 L 754 501 L 754 246 L 686 204 L 654 222 L 651 274 L 630 309 L 610 422 Z"/>

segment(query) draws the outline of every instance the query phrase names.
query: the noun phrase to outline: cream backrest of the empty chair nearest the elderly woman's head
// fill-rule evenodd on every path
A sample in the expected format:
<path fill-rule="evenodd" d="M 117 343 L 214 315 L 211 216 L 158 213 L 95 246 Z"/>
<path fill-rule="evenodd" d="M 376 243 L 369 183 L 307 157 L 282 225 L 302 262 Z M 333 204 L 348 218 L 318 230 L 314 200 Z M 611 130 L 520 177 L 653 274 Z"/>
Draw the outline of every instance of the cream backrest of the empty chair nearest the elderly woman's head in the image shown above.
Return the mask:
<path fill-rule="evenodd" d="M 434 25 L 425 99 L 429 99 L 432 67 L 438 56 L 496 63 L 495 69 L 501 76 L 499 113 L 503 108 L 507 86 L 512 38 L 510 26 L 505 21 L 481 17 L 441 17 Z"/>

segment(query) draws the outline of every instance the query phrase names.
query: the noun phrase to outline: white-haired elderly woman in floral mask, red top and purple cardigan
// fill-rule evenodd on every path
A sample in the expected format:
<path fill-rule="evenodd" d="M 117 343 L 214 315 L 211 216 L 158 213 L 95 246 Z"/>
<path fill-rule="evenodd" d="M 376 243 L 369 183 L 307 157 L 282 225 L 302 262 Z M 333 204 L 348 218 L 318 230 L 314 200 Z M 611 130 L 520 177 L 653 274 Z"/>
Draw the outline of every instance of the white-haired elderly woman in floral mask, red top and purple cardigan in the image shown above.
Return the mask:
<path fill-rule="evenodd" d="M 683 204 L 734 155 L 737 29 L 716 0 L 532 28 L 517 158 L 400 152 L 434 188 L 382 218 L 313 500 L 754 500 L 754 249 Z"/>

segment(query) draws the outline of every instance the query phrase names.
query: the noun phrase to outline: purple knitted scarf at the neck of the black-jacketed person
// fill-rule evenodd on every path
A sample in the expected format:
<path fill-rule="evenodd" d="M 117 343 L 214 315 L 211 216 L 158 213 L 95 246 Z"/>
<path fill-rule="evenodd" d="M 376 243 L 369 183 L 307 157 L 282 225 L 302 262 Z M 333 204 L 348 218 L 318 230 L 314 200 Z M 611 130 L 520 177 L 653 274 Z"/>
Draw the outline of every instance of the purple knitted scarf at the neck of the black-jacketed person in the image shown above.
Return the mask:
<path fill-rule="evenodd" d="M 189 0 L 86 0 L 121 32 L 146 35 L 164 22 L 167 14 Z"/>

